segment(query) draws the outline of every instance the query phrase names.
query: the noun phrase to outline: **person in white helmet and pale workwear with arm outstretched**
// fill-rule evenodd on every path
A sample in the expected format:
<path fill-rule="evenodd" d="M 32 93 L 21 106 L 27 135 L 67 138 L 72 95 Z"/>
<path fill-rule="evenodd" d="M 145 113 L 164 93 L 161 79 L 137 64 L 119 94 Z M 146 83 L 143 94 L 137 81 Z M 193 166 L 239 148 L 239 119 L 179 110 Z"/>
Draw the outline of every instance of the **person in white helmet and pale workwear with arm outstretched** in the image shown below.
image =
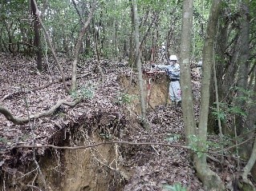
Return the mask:
<path fill-rule="evenodd" d="M 165 70 L 169 75 L 169 96 L 172 105 L 181 107 L 181 85 L 180 85 L 180 65 L 177 63 L 177 56 L 169 57 L 168 65 L 153 65 L 152 67 Z"/>

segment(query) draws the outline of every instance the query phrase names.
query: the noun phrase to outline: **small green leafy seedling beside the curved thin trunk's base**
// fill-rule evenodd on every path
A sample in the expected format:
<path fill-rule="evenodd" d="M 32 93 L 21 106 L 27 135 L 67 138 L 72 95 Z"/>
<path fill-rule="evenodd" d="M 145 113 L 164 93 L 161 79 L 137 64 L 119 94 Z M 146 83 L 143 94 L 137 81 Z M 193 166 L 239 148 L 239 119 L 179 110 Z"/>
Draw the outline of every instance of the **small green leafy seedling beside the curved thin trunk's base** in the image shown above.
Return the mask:
<path fill-rule="evenodd" d="M 95 87 L 91 85 L 83 86 L 79 90 L 71 91 L 71 97 L 77 99 L 83 97 L 86 99 L 91 99 L 94 97 Z"/>

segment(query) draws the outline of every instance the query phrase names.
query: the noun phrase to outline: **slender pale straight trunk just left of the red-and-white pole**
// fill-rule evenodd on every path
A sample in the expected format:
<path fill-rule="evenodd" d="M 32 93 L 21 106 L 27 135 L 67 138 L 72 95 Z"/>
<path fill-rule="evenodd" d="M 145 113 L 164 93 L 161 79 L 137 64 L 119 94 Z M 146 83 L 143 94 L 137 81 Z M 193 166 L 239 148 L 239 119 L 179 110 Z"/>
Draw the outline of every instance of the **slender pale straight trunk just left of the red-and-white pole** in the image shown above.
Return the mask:
<path fill-rule="evenodd" d="M 144 128 L 148 128 L 146 123 L 146 105 L 144 101 L 144 86 L 143 86 L 143 77 L 141 70 L 141 62 L 140 62 L 140 32 L 139 32 L 139 21 L 137 15 L 137 0 L 132 0 L 133 2 L 133 19 L 134 19 L 134 35 L 135 35 L 135 46 L 136 46 L 136 66 L 138 72 L 138 82 L 140 86 L 140 108 L 141 108 L 141 117 Z"/>

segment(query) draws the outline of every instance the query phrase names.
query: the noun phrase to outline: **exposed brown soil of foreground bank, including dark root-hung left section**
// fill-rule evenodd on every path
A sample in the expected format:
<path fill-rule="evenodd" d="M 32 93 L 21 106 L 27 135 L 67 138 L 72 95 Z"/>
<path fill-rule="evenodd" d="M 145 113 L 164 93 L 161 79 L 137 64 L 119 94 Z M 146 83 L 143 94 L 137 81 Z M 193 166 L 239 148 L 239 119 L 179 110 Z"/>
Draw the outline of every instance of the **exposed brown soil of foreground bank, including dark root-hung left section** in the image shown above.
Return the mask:
<path fill-rule="evenodd" d="M 80 128 L 68 134 L 57 133 L 53 138 L 55 141 L 69 140 L 59 142 L 61 146 L 91 145 L 104 141 L 99 137 L 98 129 L 90 133 Z M 55 191 L 122 190 L 130 175 L 120 158 L 118 145 L 99 145 L 88 149 L 47 149 L 43 156 L 37 158 L 43 178 L 37 172 L 35 162 L 26 161 L 16 164 L 15 168 L 4 169 L 0 186 L 10 191 L 39 188 Z M 47 182 L 47 189 L 43 180 Z"/>

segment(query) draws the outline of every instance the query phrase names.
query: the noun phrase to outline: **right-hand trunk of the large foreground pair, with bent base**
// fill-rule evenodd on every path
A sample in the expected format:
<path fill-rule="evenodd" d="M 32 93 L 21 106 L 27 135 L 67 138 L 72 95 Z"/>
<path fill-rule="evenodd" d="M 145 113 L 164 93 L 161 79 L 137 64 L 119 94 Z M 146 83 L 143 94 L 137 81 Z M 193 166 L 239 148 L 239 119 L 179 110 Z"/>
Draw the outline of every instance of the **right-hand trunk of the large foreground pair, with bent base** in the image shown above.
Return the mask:
<path fill-rule="evenodd" d="M 202 78 L 201 78 L 201 104 L 200 115 L 198 125 L 198 138 L 200 141 L 197 143 L 197 147 L 201 151 L 207 151 L 207 121 L 209 113 L 209 85 L 211 79 L 211 69 L 213 62 L 213 42 L 217 30 L 217 18 L 221 9 L 221 0 L 215 0 L 212 2 L 212 6 L 209 14 L 209 21 L 205 36 L 205 45 L 203 49 L 203 65 L 202 65 Z M 197 153 L 195 155 L 195 163 L 197 169 L 197 176 L 203 182 L 205 190 L 225 190 L 224 184 L 221 178 L 214 173 L 206 162 L 206 153 Z"/>

